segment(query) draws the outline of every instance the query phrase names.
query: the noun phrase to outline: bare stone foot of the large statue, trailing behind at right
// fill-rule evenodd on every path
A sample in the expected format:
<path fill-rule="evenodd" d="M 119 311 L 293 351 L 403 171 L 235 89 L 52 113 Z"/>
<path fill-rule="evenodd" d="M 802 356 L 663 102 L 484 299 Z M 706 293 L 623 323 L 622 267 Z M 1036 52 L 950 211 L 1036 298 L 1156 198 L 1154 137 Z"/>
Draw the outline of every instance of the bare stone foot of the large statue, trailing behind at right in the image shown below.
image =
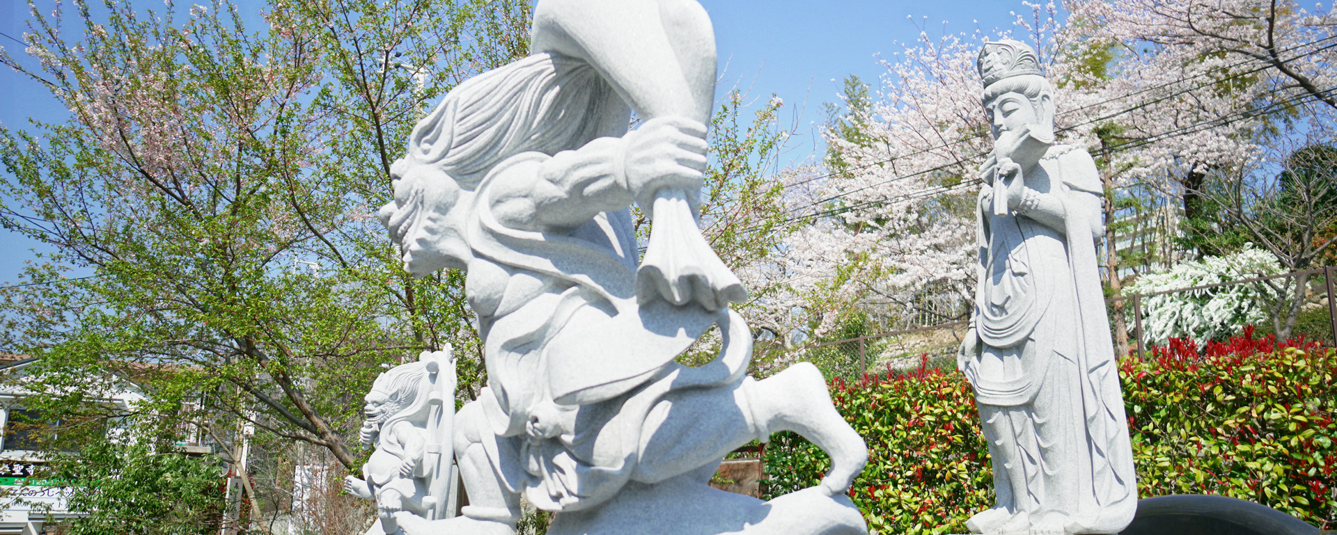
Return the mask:
<path fill-rule="evenodd" d="M 767 414 L 771 431 L 794 431 L 822 448 L 832 458 L 832 470 L 822 478 L 822 488 L 844 494 L 868 463 L 864 438 L 836 411 L 822 372 L 812 363 L 798 363 L 774 376 L 757 382 L 761 414 Z M 769 411 L 767 411 L 769 410 Z"/>

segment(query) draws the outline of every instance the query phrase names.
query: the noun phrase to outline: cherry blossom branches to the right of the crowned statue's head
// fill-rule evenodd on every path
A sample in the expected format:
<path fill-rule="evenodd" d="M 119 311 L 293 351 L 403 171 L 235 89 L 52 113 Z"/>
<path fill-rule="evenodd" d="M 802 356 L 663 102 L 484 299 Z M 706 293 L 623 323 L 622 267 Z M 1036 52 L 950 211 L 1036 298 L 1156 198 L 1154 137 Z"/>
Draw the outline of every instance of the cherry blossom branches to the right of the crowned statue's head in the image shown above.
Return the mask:
<path fill-rule="evenodd" d="M 1280 207 L 1263 197 L 1280 191 L 1273 177 L 1290 161 L 1286 147 L 1296 139 L 1330 144 L 1328 125 L 1337 113 L 1330 7 L 1308 11 L 1271 0 L 1083 0 L 1068 7 L 1072 17 L 1088 21 L 1075 33 L 1123 51 L 1115 84 L 1124 88 L 1114 91 L 1146 104 L 1120 121 L 1116 136 L 1139 145 L 1127 160 L 1134 172 L 1170 179 L 1162 184 L 1182 197 L 1191 241 L 1210 245 L 1225 223 L 1242 228 L 1289 270 L 1313 265 L 1326 247 L 1277 232 L 1267 223 L 1278 220 L 1275 209 L 1259 207 Z M 1297 223 L 1292 227 L 1328 217 L 1320 204 L 1288 208 L 1297 205 L 1314 209 L 1288 213 Z M 1209 207 L 1225 215 L 1217 225 L 1206 221 Z M 1298 311 L 1305 284 L 1306 278 L 1296 278 L 1282 292 L 1292 311 Z M 1284 316 L 1277 332 L 1286 336 L 1294 314 Z"/>

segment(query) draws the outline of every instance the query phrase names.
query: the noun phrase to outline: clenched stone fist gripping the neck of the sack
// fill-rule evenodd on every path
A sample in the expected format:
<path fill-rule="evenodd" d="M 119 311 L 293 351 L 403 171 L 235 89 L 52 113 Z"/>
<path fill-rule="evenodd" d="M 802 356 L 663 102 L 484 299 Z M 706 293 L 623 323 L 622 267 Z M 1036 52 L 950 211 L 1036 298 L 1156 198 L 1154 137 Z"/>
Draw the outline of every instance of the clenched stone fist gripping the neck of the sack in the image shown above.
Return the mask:
<path fill-rule="evenodd" d="M 655 192 L 663 188 L 701 191 L 706 125 L 687 117 L 656 117 L 623 139 L 627 189 L 643 209 L 650 209 Z"/>

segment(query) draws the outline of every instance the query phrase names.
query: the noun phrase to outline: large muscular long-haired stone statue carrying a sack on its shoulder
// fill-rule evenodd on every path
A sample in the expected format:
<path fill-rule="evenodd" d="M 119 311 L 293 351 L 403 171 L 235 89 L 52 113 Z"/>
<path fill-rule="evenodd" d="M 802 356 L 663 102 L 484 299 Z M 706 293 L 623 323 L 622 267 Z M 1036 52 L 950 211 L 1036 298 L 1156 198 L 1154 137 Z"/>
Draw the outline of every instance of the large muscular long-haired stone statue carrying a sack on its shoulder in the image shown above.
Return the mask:
<path fill-rule="evenodd" d="M 453 426 L 461 516 L 381 507 L 381 528 L 511 535 L 523 495 L 556 512 L 551 535 L 865 534 L 845 496 L 862 439 L 812 364 L 745 375 L 751 336 L 729 303 L 746 292 L 697 227 L 715 77 L 705 9 L 540 0 L 532 47 L 452 89 L 392 168 L 381 220 L 409 272 L 467 271 L 488 387 L 440 426 Z M 632 109 L 644 123 L 627 132 Z M 639 264 L 634 201 L 655 221 Z M 713 326 L 714 362 L 674 363 Z M 818 487 L 761 502 L 707 486 L 725 454 L 783 430 L 830 454 Z M 349 486 L 436 480 L 397 459 L 382 460 L 388 483 Z"/>

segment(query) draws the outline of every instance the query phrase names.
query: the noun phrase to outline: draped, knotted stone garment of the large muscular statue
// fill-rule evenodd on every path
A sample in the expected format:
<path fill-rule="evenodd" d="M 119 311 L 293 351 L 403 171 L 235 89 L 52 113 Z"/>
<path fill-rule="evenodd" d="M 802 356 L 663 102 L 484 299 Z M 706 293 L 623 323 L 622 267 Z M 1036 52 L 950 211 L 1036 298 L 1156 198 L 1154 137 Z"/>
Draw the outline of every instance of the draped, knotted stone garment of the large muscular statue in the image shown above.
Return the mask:
<path fill-rule="evenodd" d="M 488 388 L 480 402 L 496 436 L 485 439 L 484 448 L 508 488 L 540 508 L 574 511 L 607 500 L 631 479 L 655 482 L 701 466 L 683 464 L 690 452 L 677 450 L 689 448 L 687 442 L 647 455 L 642 431 L 654 430 L 647 418 L 671 392 L 737 386 L 746 359 L 727 367 L 673 363 L 717 322 L 737 330 L 742 320 L 699 307 L 651 304 L 655 314 L 643 314 L 634 290 L 639 251 L 628 211 L 600 212 L 570 233 L 497 221 L 489 208 L 492 184 L 508 173 L 533 172 L 547 159 L 528 152 L 497 165 L 479 184 L 467 235 L 476 256 L 511 272 L 509 284 L 545 288 L 481 326 Z M 750 348 L 738 346 L 734 354 Z M 532 428 L 533 419 L 545 415 L 560 422 L 556 436 Z"/>

